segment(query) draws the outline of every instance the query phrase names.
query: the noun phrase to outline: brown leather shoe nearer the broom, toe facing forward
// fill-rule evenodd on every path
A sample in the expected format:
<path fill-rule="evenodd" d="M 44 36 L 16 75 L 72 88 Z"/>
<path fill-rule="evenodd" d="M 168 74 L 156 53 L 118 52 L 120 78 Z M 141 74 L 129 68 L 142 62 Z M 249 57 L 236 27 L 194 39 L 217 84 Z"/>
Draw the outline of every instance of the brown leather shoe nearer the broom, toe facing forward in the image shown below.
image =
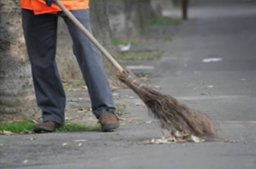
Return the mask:
<path fill-rule="evenodd" d="M 101 125 L 102 132 L 112 131 L 120 125 L 117 116 L 111 111 L 101 113 L 99 123 Z"/>

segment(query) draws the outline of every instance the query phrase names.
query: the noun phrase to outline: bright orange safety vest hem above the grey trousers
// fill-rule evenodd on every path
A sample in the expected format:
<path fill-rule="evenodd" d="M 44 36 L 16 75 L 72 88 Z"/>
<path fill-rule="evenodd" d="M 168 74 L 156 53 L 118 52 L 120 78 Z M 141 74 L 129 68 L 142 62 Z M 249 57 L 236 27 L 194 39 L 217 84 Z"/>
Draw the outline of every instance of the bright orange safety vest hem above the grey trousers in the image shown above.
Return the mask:
<path fill-rule="evenodd" d="M 62 2 L 68 10 L 82 10 L 89 8 L 88 0 L 60 0 L 60 2 Z M 21 0 L 20 5 L 23 9 L 34 11 L 35 15 L 45 13 L 57 14 L 57 12 L 62 11 L 55 3 L 52 3 L 52 6 L 49 7 L 43 0 Z"/>

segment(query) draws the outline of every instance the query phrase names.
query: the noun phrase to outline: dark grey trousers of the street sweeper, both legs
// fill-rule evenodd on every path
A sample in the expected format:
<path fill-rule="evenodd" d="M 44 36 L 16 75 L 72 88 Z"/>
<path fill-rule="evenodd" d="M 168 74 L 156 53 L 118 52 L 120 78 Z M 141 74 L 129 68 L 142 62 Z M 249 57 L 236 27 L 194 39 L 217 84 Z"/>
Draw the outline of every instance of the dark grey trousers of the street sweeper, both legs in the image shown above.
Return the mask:
<path fill-rule="evenodd" d="M 91 32 L 89 11 L 74 10 L 73 15 Z M 57 20 L 61 16 L 73 41 L 73 52 L 86 82 L 93 113 L 98 119 L 115 104 L 104 70 L 101 53 L 63 12 L 34 15 L 22 9 L 22 24 L 38 107 L 43 121 L 65 123 L 66 95 L 56 66 Z M 104 32 L 102 32 L 104 33 Z"/>

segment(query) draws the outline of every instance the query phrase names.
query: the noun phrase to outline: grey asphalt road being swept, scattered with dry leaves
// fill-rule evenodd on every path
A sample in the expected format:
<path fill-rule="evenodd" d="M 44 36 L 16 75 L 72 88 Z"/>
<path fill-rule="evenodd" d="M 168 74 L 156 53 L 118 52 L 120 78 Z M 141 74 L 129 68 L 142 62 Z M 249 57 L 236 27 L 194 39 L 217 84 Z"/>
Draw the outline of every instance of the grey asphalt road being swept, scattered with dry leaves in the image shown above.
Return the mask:
<path fill-rule="evenodd" d="M 1 136 L 1 168 L 255 169 L 255 7 L 256 2 L 195 2 L 191 20 L 173 41 L 155 45 L 165 54 L 153 65 L 153 84 L 210 114 L 225 140 L 239 142 L 143 145 L 160 138 L 154 122 L 128 123 L 113 133 Z M 202 62 L 206 58 L 222 60 Z M 151 120 L 144 106 L 134 106 L 139 102 L 130 101 L 125 114 Z"/>

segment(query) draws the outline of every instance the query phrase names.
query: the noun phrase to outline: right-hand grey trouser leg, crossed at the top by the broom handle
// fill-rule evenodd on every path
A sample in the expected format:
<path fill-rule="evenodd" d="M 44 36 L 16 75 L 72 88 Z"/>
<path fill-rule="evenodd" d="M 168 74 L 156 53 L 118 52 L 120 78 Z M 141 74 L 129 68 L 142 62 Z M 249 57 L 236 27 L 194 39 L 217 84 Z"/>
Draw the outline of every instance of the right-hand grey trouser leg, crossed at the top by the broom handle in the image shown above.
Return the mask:
<path fill-rule="evenodd" d="M 91 32 L 89 10 L 74 10 L 71 12 Z M 65 20 L 72 37 L 74 54 L 86 81 L 93 113 L 99 119 L 102 112 L 115 112 L 112 91 L 104 70 L 100 51 L 65 14 L 60 13 L 60 15 Z"/>

